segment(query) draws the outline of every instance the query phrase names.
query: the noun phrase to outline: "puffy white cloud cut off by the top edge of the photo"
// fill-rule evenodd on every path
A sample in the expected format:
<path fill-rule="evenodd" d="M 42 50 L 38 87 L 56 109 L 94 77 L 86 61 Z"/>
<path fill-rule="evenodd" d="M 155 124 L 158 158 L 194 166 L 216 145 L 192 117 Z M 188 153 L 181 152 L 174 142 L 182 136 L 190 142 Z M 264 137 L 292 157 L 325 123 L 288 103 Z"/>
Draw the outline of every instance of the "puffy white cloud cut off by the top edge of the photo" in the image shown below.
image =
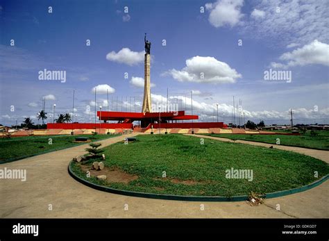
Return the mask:
<path fill-rule="evenodd" d="M 215 3 L 206 3 L 205 9 L 210 11 L 208 18 L 210 24 L 216 28 L 239 24 L 243 17 L 241 13 L 243 3 L 243 0 L 218 0 Z"/>

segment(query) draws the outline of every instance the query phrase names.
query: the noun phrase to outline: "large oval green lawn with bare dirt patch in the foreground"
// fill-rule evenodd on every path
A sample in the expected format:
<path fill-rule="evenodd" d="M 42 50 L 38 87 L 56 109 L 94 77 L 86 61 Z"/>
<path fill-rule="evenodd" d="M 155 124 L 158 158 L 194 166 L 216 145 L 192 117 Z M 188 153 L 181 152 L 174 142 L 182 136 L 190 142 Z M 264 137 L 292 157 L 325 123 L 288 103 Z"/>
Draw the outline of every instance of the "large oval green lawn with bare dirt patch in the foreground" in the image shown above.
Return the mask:
<path fill-rule="evenodd" d="M 321 160 L 299 153 L 204 140 L 186 135 L 138 135 L 137 142 L 105 147 L 105 164 L 128 174 L 135 181 L 110 183 L 87 178 L 81 164 L 71 163 L 73 171 L 89 181 L 121 190 L 180 195 L 224 196 L 268 193 L 301 187 L 329 173 Z M 86 165 L 91 165 L 87 163 Z M 253 181 L 226 178 L 226 169 L 252 169 Z M 166 172 L 167 178 L 162 178 Z M 172 180 L 193 181 L 193 185 Z"/>

